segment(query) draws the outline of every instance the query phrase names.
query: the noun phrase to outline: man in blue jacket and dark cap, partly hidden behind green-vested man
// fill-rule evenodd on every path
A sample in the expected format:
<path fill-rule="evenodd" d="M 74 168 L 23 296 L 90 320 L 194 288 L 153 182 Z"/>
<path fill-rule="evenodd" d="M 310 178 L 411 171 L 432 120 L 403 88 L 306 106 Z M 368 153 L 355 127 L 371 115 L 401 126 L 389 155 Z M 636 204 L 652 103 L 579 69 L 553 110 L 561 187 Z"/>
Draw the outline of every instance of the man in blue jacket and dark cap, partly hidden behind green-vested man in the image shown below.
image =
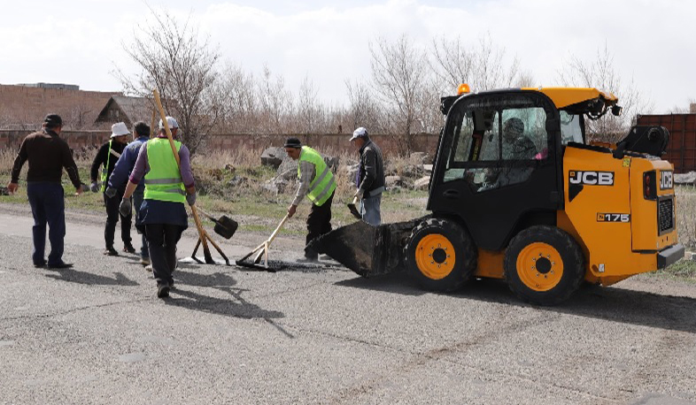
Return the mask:
<path fill-rule="evenodd" d="M 135 160 L 138 158 L 138 153 L 143 143 L 150 140 L 150 126 L 143 121 L 135 123 L 133 126 L 135 140 L 128 143 L 126 149 L 123 149 L 118 162 L 113 167 L 113 172 L 109 176 L 109 183 L 106 187 L 106 195 L 114 196 L 118 194 L 118 190 L 125 190 L 128 183 L 128 176 L 135 167 Z M 150 252 L 147 248 L 147 239 L 145 238 L 144 227 L 140 218 L 140 206 L 143 204 L 143 195 L 145 193 L 145 183 L 140 182 L 133 193 L 133 208 L 135 209 L 135 228 L 138 233 L 143 235 L 143 244 L 140 249 L 140 263 L 143 266 L 150 264 Z M 122 193 L 121 193 L 122 194 Z"/>

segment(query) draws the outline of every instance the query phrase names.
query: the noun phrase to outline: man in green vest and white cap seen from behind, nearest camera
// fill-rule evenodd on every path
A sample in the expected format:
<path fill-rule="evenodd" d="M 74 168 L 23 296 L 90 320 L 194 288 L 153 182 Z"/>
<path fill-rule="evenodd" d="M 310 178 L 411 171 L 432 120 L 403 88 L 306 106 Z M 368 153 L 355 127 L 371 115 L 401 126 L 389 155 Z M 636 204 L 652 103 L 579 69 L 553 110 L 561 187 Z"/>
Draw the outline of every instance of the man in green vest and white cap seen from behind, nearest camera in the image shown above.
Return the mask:
<path fill-rule="evenodd" d="M 175 137 L 179 130 L 176 119 L 167 117 L 166 123 Z M 169 290 L 174 287 L 172 273 L 176 268 L 176 244 L 189 224 L 184 203 L 196 203 L 189 149 L 180 141 L 174 141 L 174 149 L 179 164 L 160 120 L 157 138 L 143 143 L 138 152 L 120 203 L 122 212 L 130 212 L 130 196 L 144 180 L 145 194 L 139 216 L 145 228 L 159 298 L 168 297 Z"/>

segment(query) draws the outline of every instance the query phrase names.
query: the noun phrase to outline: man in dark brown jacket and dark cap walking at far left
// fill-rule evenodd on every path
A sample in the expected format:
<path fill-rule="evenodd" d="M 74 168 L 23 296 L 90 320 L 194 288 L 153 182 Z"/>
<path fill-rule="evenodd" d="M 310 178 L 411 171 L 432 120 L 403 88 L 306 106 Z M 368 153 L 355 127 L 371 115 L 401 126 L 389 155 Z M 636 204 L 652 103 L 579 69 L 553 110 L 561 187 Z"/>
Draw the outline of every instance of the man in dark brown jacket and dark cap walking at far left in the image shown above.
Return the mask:
<path fill-rule="evenodd" d="M 19 188 L 19 172 L 27 160 L 27 197 L 34 216 L 32 237 L 34 251 L 32 260 L 35 267 L 48 264 L 51 269 L 66 269 L 73 264 L 63 262 L 63 239 L 66 236 L 66 203 L 60 178 L 66 168 L 77 194 L 82 193 L 82 183 L 77 165 L 66 141 L 59 138 L 63 129 L 63 119 L 57 114 L 49 114 L 43 120 L 43 130 L 27 135 L 19 148 L 19 154 L 12 165 L 12 177 L 7 189 L 11 194 Z M 46 263 L 46 224 L 49 225 L 50 254 Z"/>

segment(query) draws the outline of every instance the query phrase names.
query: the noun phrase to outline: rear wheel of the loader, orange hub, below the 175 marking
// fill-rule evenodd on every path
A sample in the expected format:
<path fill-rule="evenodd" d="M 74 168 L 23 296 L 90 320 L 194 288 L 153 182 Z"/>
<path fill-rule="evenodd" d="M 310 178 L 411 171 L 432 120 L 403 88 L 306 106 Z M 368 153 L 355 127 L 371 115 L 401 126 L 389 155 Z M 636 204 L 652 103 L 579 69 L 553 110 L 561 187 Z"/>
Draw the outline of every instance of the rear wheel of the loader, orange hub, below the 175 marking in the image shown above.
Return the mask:
<path fill-rule="evenodd" d="M 522 300 L 556 305 L 583 282 L 583 251 L 572 236 L 555 226 L 531 226 L 510 241 L 505 278 Z"/>

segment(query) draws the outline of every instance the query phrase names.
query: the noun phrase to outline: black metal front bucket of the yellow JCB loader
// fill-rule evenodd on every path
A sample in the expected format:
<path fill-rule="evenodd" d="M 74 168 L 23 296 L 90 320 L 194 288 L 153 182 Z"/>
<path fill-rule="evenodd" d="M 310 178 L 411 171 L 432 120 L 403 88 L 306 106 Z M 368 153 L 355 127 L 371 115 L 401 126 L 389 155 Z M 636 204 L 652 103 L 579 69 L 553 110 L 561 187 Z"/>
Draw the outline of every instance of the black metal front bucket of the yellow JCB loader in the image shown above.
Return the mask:
<path fill-rule="evenodd" d="M 400 271 L 406 239 L 421 220 L 379 226 L 358 221 L 321 235 L 310 247 L 363 277 Z"/>

